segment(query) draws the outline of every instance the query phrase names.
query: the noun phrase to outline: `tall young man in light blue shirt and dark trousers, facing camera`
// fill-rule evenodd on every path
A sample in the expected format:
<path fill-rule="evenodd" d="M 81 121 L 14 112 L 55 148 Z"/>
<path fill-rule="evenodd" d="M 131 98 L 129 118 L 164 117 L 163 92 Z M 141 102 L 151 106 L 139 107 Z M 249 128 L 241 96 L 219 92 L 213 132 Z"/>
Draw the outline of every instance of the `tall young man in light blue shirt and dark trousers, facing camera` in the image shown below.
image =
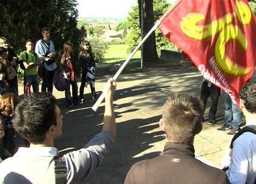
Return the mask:
<path fill-rule="evenodd" d="M 50 40 L 49 28 L 42 28 L 41 30 L 43 39 L 36 42 L 35 52 L 38 54 L 42 62 L 42 92 L 52 93 L 54 81 L 54 71 L 57 68 L 55 62 L 55 48 L 54 43 Z M 41 77 L 41 76 L 40 76 Z"/>

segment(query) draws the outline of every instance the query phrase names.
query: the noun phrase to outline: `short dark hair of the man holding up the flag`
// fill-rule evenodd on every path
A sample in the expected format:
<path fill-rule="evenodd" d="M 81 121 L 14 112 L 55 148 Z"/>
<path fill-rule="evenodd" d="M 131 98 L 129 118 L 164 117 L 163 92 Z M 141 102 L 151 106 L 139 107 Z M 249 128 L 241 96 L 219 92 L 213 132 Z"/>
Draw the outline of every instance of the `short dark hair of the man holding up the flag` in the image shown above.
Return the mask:
<path fill-rule="evenodd" d="M 57 100 L 49 93 L 23 96 L 15 109 L 14 129 L 33 144 L 43 142 L 49 127 L 57 125 L 56 106 Z"/>

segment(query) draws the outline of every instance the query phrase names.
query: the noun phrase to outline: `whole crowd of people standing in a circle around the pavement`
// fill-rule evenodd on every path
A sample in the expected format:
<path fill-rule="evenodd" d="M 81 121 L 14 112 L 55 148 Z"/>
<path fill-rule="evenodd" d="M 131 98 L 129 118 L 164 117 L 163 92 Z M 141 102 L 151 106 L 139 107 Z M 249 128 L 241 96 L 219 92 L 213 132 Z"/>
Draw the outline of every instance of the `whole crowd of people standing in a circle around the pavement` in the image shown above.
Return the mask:
<path fill-rule="evenodd" d="M 93 170 L 114 147 L 116 137 L 113 95 L 115 81 L 105 85 L 105 113 L 102 131 L 83 148 L 59 154 L 54 141 L 62 134 L 63 115 L 57 99 L 52 96 L 54 71 L 57 68 L 50 31 L 42 29 L 33 52 L 32 40 L 25 43 L 21 61 L 7 39 L 0 38 L 0 183 L 86 183 Z M 10 51 L 9 51 L 10 50 Z M 95 92 L 95 61 L 88 41 L 81 43 L 79 62 L 81 85 L 78 95 L 73 45 L 64 43 L 60 71 L 65 78 L 67 107 L 85 103 L 84 88 L 89 84 L 92 100 Z M 24 94 L 18 96 L 17 68 L 24 67 Z M 42 93 L 39 93 L 40 66 Z M 70 94 L 72 87 L 72 97 Z M 33 88 L 33 93 L 30 87 Z M 133 164 L 124 183 L 255 183 L 256 179 L 256 82 L 246 83 L 240 93 L 240 107 L 223 91 L 225 112 L 220 131 L 232 130 L 235 136 L 230 151 L 224 156 L 221 169 L 208 166 L 195 158 L 194 138 L 202 131 L 208 97 L 212 106 L 209 124 L 216 123 L 220 89 L 203 81 L 201 99 L 189 94 L 173 93 L 163 106 L 159 126 L 166 133 L 163 153 Z M 239 112 L 238 112 L 239 111 Z M 238 128 L 245 116 L 246 126 Z M 15 131 L 27 147 L 17 148 Z"/>

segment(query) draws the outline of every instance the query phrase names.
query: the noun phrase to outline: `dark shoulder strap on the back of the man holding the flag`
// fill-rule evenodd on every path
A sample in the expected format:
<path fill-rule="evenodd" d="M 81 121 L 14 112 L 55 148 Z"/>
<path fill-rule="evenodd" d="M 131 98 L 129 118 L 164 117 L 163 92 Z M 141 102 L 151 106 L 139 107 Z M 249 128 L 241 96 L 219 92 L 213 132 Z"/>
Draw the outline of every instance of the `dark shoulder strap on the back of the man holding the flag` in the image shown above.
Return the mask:
<path fill-rule="evenodd" d="M 65 163 L 64 156 L 57 155 L 54 157 L 55 163 L 55 183 L 67 183 L 67 164 Z"/>

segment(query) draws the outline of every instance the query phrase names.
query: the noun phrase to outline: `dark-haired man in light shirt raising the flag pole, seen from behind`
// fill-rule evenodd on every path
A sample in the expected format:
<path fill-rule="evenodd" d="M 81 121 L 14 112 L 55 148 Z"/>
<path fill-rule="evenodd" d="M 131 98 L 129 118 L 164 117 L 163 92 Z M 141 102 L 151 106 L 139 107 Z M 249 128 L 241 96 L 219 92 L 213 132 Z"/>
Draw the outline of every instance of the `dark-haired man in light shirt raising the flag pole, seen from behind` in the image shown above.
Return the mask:
<path fill-rule="evenodd" d="M 13 157 L 0 164 L 0 183 L 55 183 L 60 178 L 65 179 L 62 183 L 86 183 L 90 173 L 114 145 L 115 86 L 115 81 L 110 79 L 105 87 L 102 132 L 95 135 L 85 147 L 61 157 L 61 163 L 65 163 L 65 167 L 61 164 L 61 168 L 55 167 L 60 162 L 54 159 L 58 154 L 54 139 L 62 134 L 63 126 L 63 115 L 57 100 L 49 93 L 35 93 L 23 97 L 15 109 L 13 123 L 15 130 L 31 144 L 29 148 L 19 148 Z M 59 172 L 64 172 L 64 178 Z"/>

